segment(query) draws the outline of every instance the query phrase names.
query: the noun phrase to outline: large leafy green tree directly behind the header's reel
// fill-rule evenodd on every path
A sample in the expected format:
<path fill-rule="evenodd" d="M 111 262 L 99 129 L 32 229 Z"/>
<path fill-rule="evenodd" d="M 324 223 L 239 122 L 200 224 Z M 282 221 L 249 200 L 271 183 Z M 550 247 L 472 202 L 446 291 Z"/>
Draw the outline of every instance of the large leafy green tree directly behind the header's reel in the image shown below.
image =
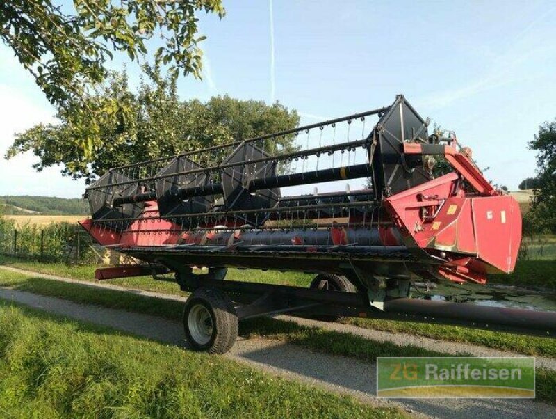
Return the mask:
<path fill-rule="evenodd" d="M 90 109 L 101 109 L 104 103 L 117 100 L 130 111 L 107 113 L 97 120 L 100 141 L 91 155 L 85 156 L 73 147 L 79 129 L 97 118 L 92 113 L 79 127 L 72 125 L 67 113 L 58 114 L 58 125 L 35 125 L 17 134 L 6 158 L 32 151 L 39 157 L 33 167 L 63 165 L 62 173 L 74 178 L 92 180 L 114 166 L 147 159 L 176 155 L 247 139 L 261 134 L 296 127 L 300 121 L 295 110 L 278 102 L 237 100 L 217 96 L 206 103 L 199 100 L 181 101 L 176 92 L 176 77 L 162 77 L 158 68 L 145 69 L 149 81 L 143 81 L 136 93 L 131 92 L 126 73 L 112 73 L 94 94 L 85 97 Z M 293 150 L 293 136 L 280 136 L 269 141 L 269 148 Z"/>

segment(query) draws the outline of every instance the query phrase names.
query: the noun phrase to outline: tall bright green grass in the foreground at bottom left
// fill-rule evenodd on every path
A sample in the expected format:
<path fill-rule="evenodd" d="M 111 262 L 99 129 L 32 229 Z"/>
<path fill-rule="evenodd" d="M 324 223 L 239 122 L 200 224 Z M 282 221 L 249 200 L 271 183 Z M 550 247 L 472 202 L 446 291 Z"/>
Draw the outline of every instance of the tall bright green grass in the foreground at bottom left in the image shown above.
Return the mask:
<path fill-rule="evenodd" d="M 4 418 L 405 418 L 218 356 L 0 306 Z"/>

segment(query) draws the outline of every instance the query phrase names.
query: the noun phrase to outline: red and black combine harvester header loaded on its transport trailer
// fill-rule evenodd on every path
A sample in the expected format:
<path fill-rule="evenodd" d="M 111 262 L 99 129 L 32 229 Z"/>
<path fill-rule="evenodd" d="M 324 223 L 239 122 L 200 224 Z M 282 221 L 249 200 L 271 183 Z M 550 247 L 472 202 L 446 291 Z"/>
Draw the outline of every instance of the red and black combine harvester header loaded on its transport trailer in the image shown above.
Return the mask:
<path fill-rule="evenodd" d="M 142 264 L 97 278 L 174 274 L 191 292 L 186 338 L 211 353 L 234 345 L 238 320 L 277 313 L 553 337 L 556 313 L 411 298 L 415 280 L 511 273 L 521 242 L 516 200 L 455 134 L 428 124 L 398 95 L 373 111 L 113 168 L 86 190 L 92 216 L 81 226 Z M 439 163 L 450 169 L 434 177 Z M 303 288 L 226 280 L 228 268 L 316 276 Z"/>

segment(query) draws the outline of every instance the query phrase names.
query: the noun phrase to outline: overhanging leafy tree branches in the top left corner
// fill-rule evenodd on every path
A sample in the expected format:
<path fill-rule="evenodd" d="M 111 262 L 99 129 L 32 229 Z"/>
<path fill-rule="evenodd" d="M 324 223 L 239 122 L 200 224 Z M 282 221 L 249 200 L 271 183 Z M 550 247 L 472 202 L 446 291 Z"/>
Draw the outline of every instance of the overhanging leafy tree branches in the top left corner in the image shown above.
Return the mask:
<path fill-rule="evenodd" d="M 33 75 L 47 99 L 72 125 L 83 124 L 88 114 L 126 112 L 116 100 L 104 107 L 84 101 L 88 89 L 106 78 L 106 62 L 113 52 L 131 60 L 145 58 L 147 43 L 159 38 L 156 64 L 170 71 L 200 77 L 202 51 L 197 36 L 197 13 L 224 15 L 221 0 L 74 0 L 56 6 L 51 0 L 10 0 L 0 3 L 0 38 Z M 73 147 L 89 157 L 99 141 L 97 118 L 81 127 Z"/>

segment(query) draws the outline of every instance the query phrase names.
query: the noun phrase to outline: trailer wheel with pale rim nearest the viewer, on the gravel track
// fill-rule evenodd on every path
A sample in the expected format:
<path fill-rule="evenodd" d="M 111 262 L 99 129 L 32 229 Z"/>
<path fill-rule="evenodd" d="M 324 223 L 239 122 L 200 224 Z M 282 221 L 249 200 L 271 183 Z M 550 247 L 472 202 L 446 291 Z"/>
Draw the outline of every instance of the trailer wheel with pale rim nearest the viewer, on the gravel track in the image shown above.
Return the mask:
<path fill-rule="evenodd" d="M 183 308 L 183 328 L 195 351 L 224 354 L 238 337 L 238 316 L 227 294 L 215 288 L 198 288 Z"/>

